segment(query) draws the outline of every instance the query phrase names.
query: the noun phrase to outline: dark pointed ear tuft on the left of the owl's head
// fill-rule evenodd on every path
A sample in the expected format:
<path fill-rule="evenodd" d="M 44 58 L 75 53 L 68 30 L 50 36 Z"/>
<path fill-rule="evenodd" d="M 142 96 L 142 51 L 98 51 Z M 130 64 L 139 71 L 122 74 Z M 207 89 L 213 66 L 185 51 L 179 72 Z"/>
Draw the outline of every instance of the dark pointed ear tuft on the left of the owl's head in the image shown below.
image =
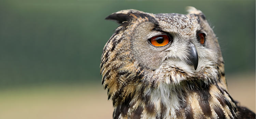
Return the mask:
<path fill-rule="evenodd" d="M 121 24 L 125 21 L 131 22 L 131 20 L 133 18 L 137 18 L 137 16 L 134 15 L 134 14 L 138 15 L 138 14 L 145 14 L 145 13 L 141 12 L 141 11 L 138 11 L 138 10 L 133 10 L 133 9 L 121 10 L 121 11 L 118 11 L 116 13 L 112 13 L 111 15 L 106 17 L 105 19 L 115 20 L 115 21 L 117 21 L 118 23 Z"/>

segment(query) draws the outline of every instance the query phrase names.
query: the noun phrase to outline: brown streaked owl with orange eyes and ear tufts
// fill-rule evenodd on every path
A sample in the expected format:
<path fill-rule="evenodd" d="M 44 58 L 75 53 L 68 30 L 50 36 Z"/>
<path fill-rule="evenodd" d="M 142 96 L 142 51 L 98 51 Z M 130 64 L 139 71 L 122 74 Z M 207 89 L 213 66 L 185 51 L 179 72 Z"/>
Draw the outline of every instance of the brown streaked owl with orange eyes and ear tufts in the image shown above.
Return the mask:
<path fill-rule="evenodd" d="M 114 119 L 234 119 L 255 113 L 233 100 L 218 40 L 205 15 L 122 10 L 101 56 Z"/>

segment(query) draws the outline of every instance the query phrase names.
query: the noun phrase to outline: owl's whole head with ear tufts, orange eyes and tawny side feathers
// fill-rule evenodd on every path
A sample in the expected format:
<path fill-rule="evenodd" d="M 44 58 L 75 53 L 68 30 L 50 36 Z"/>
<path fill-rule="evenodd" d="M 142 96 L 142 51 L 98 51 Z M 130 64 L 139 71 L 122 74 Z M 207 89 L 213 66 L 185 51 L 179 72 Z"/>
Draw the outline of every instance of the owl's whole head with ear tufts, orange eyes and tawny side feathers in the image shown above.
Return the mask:
<path fill-rule="evenodd" d="M 114 105 L 141 88 L 218 82 L 224 72 L 218 40 L 200 10 L 187 11 L 184 15 L 122 10 L 106 17 L 120 24 L 104 46 L 100 66 L 102 84 Z"/>

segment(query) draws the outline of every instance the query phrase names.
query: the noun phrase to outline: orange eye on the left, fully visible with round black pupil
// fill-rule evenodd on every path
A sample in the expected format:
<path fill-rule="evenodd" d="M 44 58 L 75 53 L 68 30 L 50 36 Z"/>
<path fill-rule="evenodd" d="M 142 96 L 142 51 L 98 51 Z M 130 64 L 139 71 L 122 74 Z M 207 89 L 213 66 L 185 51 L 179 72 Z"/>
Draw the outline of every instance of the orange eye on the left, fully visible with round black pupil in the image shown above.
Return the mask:
<path fill-rule="evenodd" d="M 150 42 L 153 46 L 165 46 L 169 43 L 169 37 L 167 35 L 155 36 L 151 38 Z"/>

